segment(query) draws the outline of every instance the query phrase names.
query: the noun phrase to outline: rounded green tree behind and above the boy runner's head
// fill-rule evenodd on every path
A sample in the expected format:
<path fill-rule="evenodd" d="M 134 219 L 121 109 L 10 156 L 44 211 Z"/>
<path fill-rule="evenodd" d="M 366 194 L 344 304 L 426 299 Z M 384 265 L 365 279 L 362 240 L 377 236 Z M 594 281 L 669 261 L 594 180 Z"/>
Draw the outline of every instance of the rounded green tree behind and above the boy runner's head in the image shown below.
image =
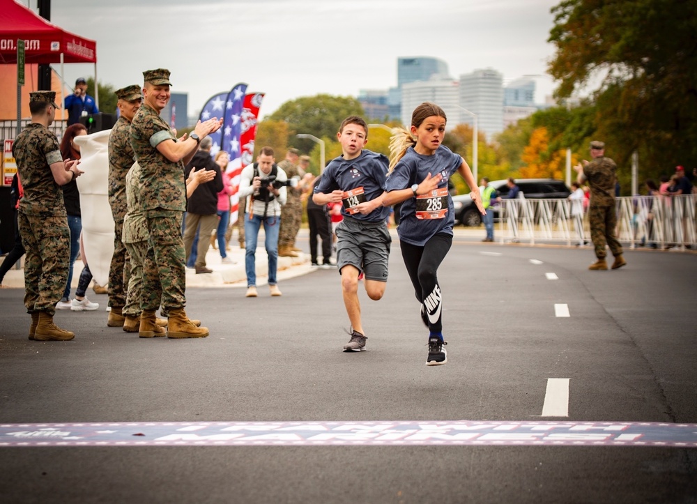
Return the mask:
<path fill-rule="evenodd" d="M 355 98 L 319 94 L 285 102 L 268 119 L 287 123 L 289 144 L 300 151 L 310 152 L 314 142 L 296 139 L 295 135 L 304 133 L 322 139 L 336 138 L 339 125 L 353 115 L 363 115 L 363 107 Z"/>

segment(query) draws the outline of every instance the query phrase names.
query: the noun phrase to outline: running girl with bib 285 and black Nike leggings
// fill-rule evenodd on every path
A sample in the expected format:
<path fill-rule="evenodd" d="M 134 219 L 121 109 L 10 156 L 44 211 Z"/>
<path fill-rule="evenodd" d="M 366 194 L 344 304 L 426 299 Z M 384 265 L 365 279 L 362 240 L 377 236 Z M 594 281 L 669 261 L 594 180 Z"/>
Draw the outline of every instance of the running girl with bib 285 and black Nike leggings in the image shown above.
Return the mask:
<path fill-rule="evenodd" d="M 470 167 L 442 144 L 445 121 L 445 112 L 434 103 L 424 102 L 414 109 L 410 131 L 401 130 L 390 141 L 390 173 L 383 199 L 384 206 L 402 203 L 397 234 L 404 266 L 421 304 L 421 319 L 429 328 L 429 366 L 447 362 L 438 266 L 452 245 L 454 208 L 447 180 L 455 171 L 470 187 L 480 213 L 485 213 Z"/>

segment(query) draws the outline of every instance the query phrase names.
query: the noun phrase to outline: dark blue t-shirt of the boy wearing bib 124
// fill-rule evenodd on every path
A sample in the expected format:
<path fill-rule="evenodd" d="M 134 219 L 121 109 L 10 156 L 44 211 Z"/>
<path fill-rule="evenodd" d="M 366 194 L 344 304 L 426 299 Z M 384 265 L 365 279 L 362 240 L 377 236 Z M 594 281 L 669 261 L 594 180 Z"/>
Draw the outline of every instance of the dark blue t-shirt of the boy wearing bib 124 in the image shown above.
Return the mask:
<path fill-rule="evenodd" d="M 390 161 L 383 154 L 363 149 L 352 160 L 343 156 L 333 159 L 322 173 L 322 180 L 315 186 L 314 192 L 327 194 L 332 191 L 344 191 L 342 215 L 365 222 L 380 222 L 390 215 L 390 208 L 378 206 L 374 211 L 363 215 L 353 213 L 351 208 L 363 201 L 372 201 L 385 192 L 385 178 L 388 175 Z"/>

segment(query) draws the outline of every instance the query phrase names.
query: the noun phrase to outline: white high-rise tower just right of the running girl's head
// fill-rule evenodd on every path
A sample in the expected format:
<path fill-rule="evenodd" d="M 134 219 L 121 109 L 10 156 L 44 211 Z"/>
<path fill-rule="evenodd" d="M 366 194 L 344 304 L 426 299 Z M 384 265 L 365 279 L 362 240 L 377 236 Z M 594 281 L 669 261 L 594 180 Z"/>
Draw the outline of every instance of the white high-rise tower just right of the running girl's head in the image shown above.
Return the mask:
<path fill-rule="evenodd" d="M 480 132 L 491 140 L 493 135 L 503 131 L 503 75 L 485 68 L 460 76 L 460 105 L 477 114 Z M 464 111 L 459 112 L 459 122 L 473 124 L 473 118 Z"/>

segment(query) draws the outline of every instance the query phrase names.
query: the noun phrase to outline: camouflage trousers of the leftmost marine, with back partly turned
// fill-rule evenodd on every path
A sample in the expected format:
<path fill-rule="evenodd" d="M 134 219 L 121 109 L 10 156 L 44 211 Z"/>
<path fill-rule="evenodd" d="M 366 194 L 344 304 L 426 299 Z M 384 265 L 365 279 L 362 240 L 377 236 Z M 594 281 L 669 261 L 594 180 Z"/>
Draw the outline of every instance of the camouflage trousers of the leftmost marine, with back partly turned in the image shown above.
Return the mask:
<path fill-rule="evenodd" d="M 24 259 L 24 306 L 27 313 L 56 312 L 70 268 L 68 218 L 18 215 Z"/>

